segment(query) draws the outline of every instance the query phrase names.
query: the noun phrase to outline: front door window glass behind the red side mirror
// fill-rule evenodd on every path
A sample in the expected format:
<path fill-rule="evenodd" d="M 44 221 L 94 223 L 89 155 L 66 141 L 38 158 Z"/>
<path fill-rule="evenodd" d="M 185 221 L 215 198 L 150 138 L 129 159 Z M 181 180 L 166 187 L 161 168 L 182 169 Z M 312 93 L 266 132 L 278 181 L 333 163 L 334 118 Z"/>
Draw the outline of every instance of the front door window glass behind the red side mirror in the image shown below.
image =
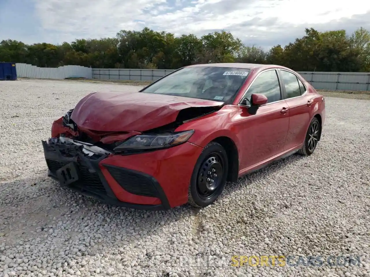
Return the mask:
<path fill-rule="evenodd" d="M 249 101 L 253 93 L 263 94 L 267 97 L 267 103 L 281 100 L 279 78 L 276 70 L 262 72 L 249 87 L 245 99 Z"/>

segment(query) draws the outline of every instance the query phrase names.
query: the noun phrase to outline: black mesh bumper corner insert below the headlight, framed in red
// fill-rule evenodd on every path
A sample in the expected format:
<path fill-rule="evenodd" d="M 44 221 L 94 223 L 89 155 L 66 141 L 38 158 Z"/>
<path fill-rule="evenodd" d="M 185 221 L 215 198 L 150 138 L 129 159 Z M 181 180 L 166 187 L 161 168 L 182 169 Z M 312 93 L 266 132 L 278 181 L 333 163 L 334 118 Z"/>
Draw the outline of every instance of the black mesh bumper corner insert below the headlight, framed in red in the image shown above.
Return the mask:
<path fill-rule="evenodd" d="M 125 191 L 136 195 L 159 197 L 155 184 L 150 177 L 121 167 L 104 166 Z"/>

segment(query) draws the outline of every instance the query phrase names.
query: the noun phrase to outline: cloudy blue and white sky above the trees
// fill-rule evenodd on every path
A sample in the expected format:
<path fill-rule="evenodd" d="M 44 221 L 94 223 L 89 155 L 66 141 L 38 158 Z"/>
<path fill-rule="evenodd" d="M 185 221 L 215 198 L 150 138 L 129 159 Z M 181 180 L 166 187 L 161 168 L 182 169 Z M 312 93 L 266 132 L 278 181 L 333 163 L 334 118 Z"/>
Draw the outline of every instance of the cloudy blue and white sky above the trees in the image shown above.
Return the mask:
<path fill-rule="evenodd" d="M 198 36 L 226 30 L 268 49 L 304 34 L 370 30 L 370 1 L 351 0 L 0 0 L 0 40 L 62 43 L 149 27 Z"/>

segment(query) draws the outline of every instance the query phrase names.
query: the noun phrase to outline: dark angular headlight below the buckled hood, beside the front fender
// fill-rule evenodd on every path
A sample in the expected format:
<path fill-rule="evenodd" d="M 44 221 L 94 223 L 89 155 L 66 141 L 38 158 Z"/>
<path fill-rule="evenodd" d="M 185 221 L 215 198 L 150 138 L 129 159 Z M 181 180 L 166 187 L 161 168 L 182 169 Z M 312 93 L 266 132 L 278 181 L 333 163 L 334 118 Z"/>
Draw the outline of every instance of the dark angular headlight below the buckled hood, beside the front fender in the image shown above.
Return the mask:
<path fill-rule="evenodd" d="M 142 134 L 129 138 L 115 147 L 114 151 L 161 149 L 185 143 L 192 136 L 194 130 L 171 134 Z"/>

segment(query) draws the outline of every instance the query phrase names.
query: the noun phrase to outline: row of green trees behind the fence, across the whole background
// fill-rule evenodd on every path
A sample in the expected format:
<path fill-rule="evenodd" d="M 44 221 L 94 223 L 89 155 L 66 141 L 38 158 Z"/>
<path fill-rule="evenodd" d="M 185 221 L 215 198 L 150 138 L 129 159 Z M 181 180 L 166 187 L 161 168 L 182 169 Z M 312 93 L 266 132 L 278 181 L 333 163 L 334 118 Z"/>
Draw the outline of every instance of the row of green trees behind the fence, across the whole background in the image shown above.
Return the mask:
<path fill-rule="evenodd" d="M 370 32 L 359 28 L 348 35 L 344 30 L 319 32 L 306 28 L 302 38 L 269 51 L 248 46 L 230 32 L 220 31 L 196 37 L 175 37 L 149 28 L 122 30 L 114 38 L 76 39 L 60 45 L 0 42 L 0 61 L 39 67 L 81 65 L 92 68 L 177 69 L 191 64 L 245 62 L 277 64 L 296 71 L 369 72 Z"/>

